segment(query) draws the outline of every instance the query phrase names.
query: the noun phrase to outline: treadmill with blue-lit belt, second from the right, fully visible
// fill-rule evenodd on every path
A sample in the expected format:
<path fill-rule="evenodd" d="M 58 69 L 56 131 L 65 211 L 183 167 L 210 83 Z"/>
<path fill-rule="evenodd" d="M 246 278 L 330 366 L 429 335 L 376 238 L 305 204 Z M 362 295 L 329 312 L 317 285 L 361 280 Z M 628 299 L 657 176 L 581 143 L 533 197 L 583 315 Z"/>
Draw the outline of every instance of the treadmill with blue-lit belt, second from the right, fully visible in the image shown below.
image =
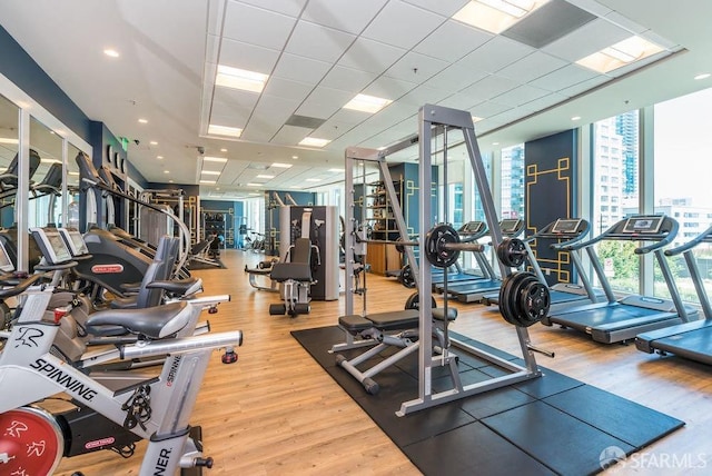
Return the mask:
<path fill-rule="evenodd" d="M 641 333 L 681 324 L 692 317 L 696 318 L 699 313 L 695 309 L 683 306 L 668 260 L 663 256 L 663 248 L 674 239 L 678 227 L 678 221 L 665 215 L 639 215 L 622 219 L 596 238 L 567 246 L 572 251 L 586 250 L 606 301 L 571 306 L 557 313 L 550 313 L 541 323 L 546 326 L 557 324 L 571 327 L 591 335 L 595 341 L 612 344 L 633 339 Z M 672 300 L 640 295 L 616 299 L 593 248 L 595 244 L 604 240 L 641 241 L 641 246 L 635 248 L 635 254 L 653 252 Z M 650 245 L 645 245 L 647 242 Z"/>

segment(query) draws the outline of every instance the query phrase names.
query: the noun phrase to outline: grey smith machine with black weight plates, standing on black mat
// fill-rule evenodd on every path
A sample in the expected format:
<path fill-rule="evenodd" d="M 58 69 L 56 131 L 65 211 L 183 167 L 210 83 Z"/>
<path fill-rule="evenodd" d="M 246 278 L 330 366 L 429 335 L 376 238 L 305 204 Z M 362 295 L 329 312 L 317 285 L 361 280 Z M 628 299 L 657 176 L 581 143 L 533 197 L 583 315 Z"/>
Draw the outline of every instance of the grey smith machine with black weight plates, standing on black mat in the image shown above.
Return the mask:
<path fill-rule="evenodd" d="M 360 166 L 363 167 L 365 175 L 365 163 L 374 163 L 379 169 L 382 181 L 385 185 L 388 198 L 393 204 L 393 214 L 400 236 L 398 244 L 403 245 L 407 261 L 413 269 L 415 284 L 419 294 L 419 303 L 432 301 L 432 266 L 446 268 L 457 260 L 461 251 L 475 250 L 481 246 L 474 242 L 461 242 L 457 231 L 448 224 L 436 225 L 433 222 L 435 221 L 435 216 L 432 210 L 432 198 L 429 194 L 429 185 L 433 182 L 431 168 L 433 163 L 433 140 L 442 133 L 442 171 L 444 184 L 447 184 L 447 138 L 449 132 L 456 132 L 457 130 L 461 130 L 463 133 L 463 141 L 467 148 L 469 162 L 472 170 L 474 171 L 477 190 L 484 208 L 487 227 L 492 232 L 493 245 L 500 246 L 503 239 L 500 227 L 497 226 L 497 214 L 492 198 L 490 184 L 487 182 L 487 177 L 485 175 L 485 167 L 475 138 L 472 116 L 467 111 L 425 105 L 418 112 L 418 136 L 416 138 L 407 139 L 403 143 L 380 151 L 363 148 L 346 149 L 346 224 L 347 231 L 350 231 L 345 234 L 347 256 L 349 256 L 348 250 L 358 249 L 359 247 L 363 247 L 364 242 L 367 244 L 370 241 L 363 235 L 358 234 L 357 230 L 359 227 L 354 218 L 354 169 Z M 395 192 L 385 159 L 388 155 L 412 146 L 416 141 L 419 148 L 419 228 L 417 239 L 413 240 L 413 238 L 407 235 L 407 228 L 400 204 L 398 201 L 398 196 Z M 443 199 L 445 200 L 443 209 L 447 210 L 447 195 L 445 195 Z M 379 240 L 378 242 L 384 241 Z M 421 262 L 415 258 L 414 247 L 419 247 Z M 512 252 L 516 254 L 516 250 L 512 250 Z M 514 325 L 524 364 L 518 365 L 512 360 L 501 358 L 492 353 L 473 347 L 472 345 L 448 336 L 447 320 L 453 319 L 449 316 L 454 313 L 448 311 L 446 298 L 443 314 L 441 314 L 439 310 L 437 310 L 438 313 L 434 313 L 429 306 L 419 306 L 417 320 L 414 320 L 411 327 L 413 330 L 417 328 L 418 337 L 416 341 L 409 343 L 407 346 L 407 354 L 411 354 L 416 349 L 418 350 L 418 396 L 412 400 L 404 401 L 400 409 L 396 411 L 398 416 L 404 416 L 406 414 L 437 406 L 447 401 L 453 401 L 495 388 L 533 379 L 542 375 L 536 364 L 536 359 L 534 358 L 534 351 L 542 353 L 550 357 L 553 357 L 554 355 L 553 353 L 538 349 L 531 344 L 527 326 L 538 321 L 541 317 L 546 314 L 548 309 L 547 290 L 544 289 L 543 286 L 538 286 L 531 281 L 531 279 L 528 279 L 530 274 L 512 272 L 512 269 L 503 262 L 500 262 L 498 266 L 502 276 L 505 277 L 502 287 L 503 292 L 505 292 L 504 300 L 507 303 L 507 306 L 504 306 L 506 311 L 503 313 L 503 317 L 506 321 Z M 354 277 L 354 260 L 346 259 L 345 268 L 347 276 L 346 282 L 350 282 Z M 447 284 L 445 284 L 445 286 L 447 286 Z M 445 292 L 444 296 L 446 297 L 447 292 Z M 353 292 L 346 292 L 345 305 L 346 315 L 354 315 Z M 503 306 L 500 307 L 502 308 Z M 394 313 L 386 314 L 393 315 Z M 439 319 L 436 319 L 437 325 L 434 326 L 434 314 L 448 317 L 441 317 Z M 356 315 L 356 318 L 363 318 L 362 321 L 364 319 L 372 320 L 374 326 L 378 327 L 376 319 L 368 319 L 369 316 L 365 311 L 365 306 L 363 315 Z M 386 329 L 385 331 L 387 331 L 388 328 L 384 326 L 383 329 Z M 390 329 L 393 329 L 393 327 Z M 402 327 L 400 329 L 404 328 Z M 346 328 L 345 330 L 346 341 L 334 346 L 333 351 L 382 344 L 373 338 L 362 338 L 363 336 L 360 335 L 354 335 L 354 333 L 349 333 Z M 437 331 L 439 331 L 441 335 L 444 335 L 444 338 L 434 343 L 434 330 L 436 331 L 436 336 Z M 445 344 L 439 345 L 439 343 Z M 456 354 L 453 353 L 451 348 L 456 349 L 457 354 L 469 354 L 485 360 L 486 363 L 493 364 L 505 370 L 507 375 L 492 377 L 488 380 L 478 381 L 476 384 L 463 385 L 457 371 Z M 364 353 L 364 355 L 366 353 Z M 383 366 L 364 377 L 365 374 L 355 369 L 355 365 L 350 365 L 348 363 L 344 364 L 344 358 L 337 358 L 337 360 L 342 367 L 346 368 L 352 375 L 358 378 L 369 393 L 377 391 L 378 386 L 370 379 L 370 376 L 380 371 L 384 368 Z M 386 365 L 392 364 L 388 363 Z M 447 366 L 449 368 L 452 388 L 443 391 L 434 391 L 433 369 L 443 366 Z M 374 385 L 375 391 L 369 390 L 368 380 Z"/>

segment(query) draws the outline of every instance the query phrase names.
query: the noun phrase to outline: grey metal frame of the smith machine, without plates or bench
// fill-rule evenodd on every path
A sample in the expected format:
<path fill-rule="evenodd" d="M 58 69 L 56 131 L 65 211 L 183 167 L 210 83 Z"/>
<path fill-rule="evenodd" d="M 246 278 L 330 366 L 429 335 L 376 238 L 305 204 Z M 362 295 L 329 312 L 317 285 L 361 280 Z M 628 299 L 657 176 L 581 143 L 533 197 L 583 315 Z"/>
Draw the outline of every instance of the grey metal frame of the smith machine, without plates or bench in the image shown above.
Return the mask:
<path fill-rule="evenodd" d="M 469 162 L 474 171 L 477 190 L 481 195 L 481 201 L 484 208 L 485 218 L 488 228 L 492 230 L 493 245 L 496 247 L 502 242 L 502 232 L 497 226 L 497 215 L 494 207 L 494 200 L 487 182 L 485 173 L 485 167 L 482 161 L 482 155 L 477 146 L 475 138 L 474 125 L 472 116 L 467 111 L 461 111 L 451 108 L 444 108 L 439 106 L 425 105 L 418 112 L 418 136 L 415 138 L 408 138 L 398 145 L 389 147 L 385 150 L 365 149 L 365 148 L 347 148 L 345 152 L 346 158 L 346 224 L 348 227 L 354 224 L 354 166 L 357 162 L 373 162 L 377 163 L 382 173 L 382 179 L 386 185 L 386 191 L 393 204 L 393 211 L 396 220 L 397 228 L 399 230 L 402 239 L 408 240 L 407 228 L 400 211 L 398 199 L 395 190 L 393 189 L 393 182 L 386 166 L 386 157 L 403 150 L 406 147 L 411 147 L 417 141 L 419 148 L 419 167 L 418 179 L 421 187 L 427 184 L 432 184 L 432 148 L 434 132 L 437 130 L 445 130 L 444 137 L 447 137 L 447 129 L 459 129 L 463 132 L 464 143 L 467 148 L 469 156 Z M 447 147 L 443 148 L 444 150 Z M 445 182 L 446 177 L 446 163 L 447 156 L 444 153 L 444 167 L 445 167 Z M 433 215 L 431 206 L 431 194 L 421 192 L 419 199 L 419 232 L 418 244 L 423 246 L 426 242 L 426 234 L 433 227 Z M 346 249 L 352 249 L 354 244 L 354 237 L 350 232 L 345 234 Z M 432 299 L 432 269 L 431 266 L 418 266 L 415 254 L 412 246 L 404 248 L 407 256 L 407 261 L 414 271 L 416 288 L 419 292 L 421 303 L 429 303 Z M 421 252 L 423 258 L 423 252 Z M 353 276 L 353 264 L 346 260 L 346 276 Z M 502 276 L 507 276 L 511 270 L 500 264 Z M 353 314 L 354 298 L 350 292 L 346 292 L 346 314 Z M 447 314 L 447 301 L 445 304 L 445 313 Z M 534 351 L 541 351 L 536 349 L 530 340 L 528 331 L 526 327 L 514 326 L 516 329 L 520 347 L 522 350 L 524 365 L 514 364 L 511 360 L 503 359 L 494 354 L 475 348 L 457 339 L 449 339 L 452 347 L 458 349 L 461 353 L 466 353 L 478 357 L 487 363 L 491 363 L 500 368 L 508 371 L 505 376 L 493 377 L 485 381 L 479 381 L 471 385 L 463 385 L 457 374 L 456 359 L 454 355 L 449 354 L 448 348 L 442 349 L 442 354 L 434 354 L 433 348 L 433 315 L 432 309 L 428 306 L 419 307 L 419 321 L 418 321 L 418 341 L 415 344 L 418 346 L 418 396 L 412 400 L 404 401 L 400 409 L 396 411 L 398 416 L 404 416 L 413 411 L 434 407 L 447 401 L 457 400 L 468 396 L 482 394 L 495 388 L 505 387 L 515 383 L 528 380 L 540 377 L 541 370 L 536 364 Z M 447 336 L 446 336 L 447 337 Z M 354 341 L 353 337 L 347 334 L 347 341 L 340 346 L 335 346 L 335 350 L 340 348 L 354 348 L 358 346 L 373 345 L 369 341 Z M 451 377 L 453 381 L 453 388 L 444 391 L 433 390 L 433 368 L 441 366 L 449 366 Z"/>

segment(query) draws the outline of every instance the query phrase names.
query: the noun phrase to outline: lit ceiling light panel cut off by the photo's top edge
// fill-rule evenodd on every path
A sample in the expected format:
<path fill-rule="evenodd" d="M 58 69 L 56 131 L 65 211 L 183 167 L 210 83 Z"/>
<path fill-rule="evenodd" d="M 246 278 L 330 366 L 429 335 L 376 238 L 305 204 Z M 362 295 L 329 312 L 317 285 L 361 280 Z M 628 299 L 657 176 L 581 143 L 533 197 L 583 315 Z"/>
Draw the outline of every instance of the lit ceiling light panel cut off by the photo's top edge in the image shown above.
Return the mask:
<path fill-rule="evenodd" d="M 548 0 L 473 0 L 453 16 L 453 20 L 501 33 Z"/>

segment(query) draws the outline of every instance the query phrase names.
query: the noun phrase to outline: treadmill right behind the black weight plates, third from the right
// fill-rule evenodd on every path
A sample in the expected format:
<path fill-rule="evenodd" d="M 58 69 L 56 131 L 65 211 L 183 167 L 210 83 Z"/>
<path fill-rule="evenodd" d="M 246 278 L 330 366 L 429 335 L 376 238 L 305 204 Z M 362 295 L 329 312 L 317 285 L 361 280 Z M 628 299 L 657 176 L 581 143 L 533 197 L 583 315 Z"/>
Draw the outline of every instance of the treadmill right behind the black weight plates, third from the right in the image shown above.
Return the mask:
<path fill-rule="evenodd" d="M 545 239 L 552 241 L 548 247 L 557 255 L 565 254 L 574 265 L 574 269 L 581 279 L 581 285 L 574 282 L 556 282 L 548 288 L 550 308 L 548 313 L 558 313 L 570 306 L 599 303 L 605 299 L 602 289 L 594 289 L 585 272 L 578 250 L 570 250 L 568 246 L 582 241 L 589 236 L 591 225 L 582 218 L 558 218 L 546 225 L 544 228 L 523 240 L 526 250 L 527 261 L 532 271 L 540 281 L 546 284 L 546 278 L 542 271 L 531 244 L 535 240 Z M 500 303 L 500 292 L 491 292 L 484 296 L 484 304 L 492 305 Z"/>

